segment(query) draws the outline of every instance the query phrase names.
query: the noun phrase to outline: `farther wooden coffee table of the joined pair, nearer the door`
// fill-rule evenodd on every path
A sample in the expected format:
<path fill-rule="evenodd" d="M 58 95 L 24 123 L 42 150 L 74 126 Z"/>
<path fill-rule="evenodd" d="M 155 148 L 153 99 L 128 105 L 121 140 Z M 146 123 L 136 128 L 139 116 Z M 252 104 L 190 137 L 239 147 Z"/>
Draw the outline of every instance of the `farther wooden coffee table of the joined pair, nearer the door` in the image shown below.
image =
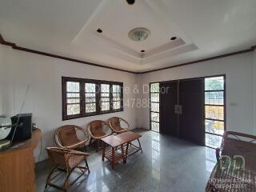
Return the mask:
<path fill-rule="evenodd" d="M 141 142 L 139 141 L 139 138 L 142 137 L 141 134 L 136 134 L 134 132 L 128 131 L 128 132 L 125 132 L 125 133 L 122 133 L 122 134 L 118 134 L 118 135 L 116 135 L 116 137 L 120 138 L 120 139 L 122 139 L 122 141 L 126 142 L 126 158 L 127 158 L 127 156 L 135 154 L 138 151 L 143 152 Z M 138 141 L 138 146 L 135 146 L 132 143 L 134 140 Z"/>

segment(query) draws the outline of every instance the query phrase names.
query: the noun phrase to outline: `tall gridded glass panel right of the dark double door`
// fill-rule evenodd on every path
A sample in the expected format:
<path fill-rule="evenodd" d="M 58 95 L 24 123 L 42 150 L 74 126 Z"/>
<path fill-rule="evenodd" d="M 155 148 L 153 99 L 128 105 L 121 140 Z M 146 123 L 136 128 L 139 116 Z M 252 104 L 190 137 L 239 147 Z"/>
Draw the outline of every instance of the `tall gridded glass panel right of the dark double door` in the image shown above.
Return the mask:
<path fill-rule="evenodd" d="M 219 147 L 225 129 L 225 76 L 205 78 L 206 146 Z"/>

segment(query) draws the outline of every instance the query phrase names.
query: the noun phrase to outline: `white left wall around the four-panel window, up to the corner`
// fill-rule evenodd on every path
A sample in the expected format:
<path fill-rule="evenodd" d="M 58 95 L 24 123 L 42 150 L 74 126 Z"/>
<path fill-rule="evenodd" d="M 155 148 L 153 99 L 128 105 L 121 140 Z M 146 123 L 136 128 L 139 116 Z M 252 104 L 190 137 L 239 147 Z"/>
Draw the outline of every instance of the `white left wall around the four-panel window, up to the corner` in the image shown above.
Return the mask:
<path fill-rule="evenodd" d="M 74 124 L 86 127 L 88 122 L 95 119 L 106 120 L 113 116 L 120 116 L 130 122 L 132 129 L 136 127 L 136 109 L 130 106 L 125 106 L 123 112 L 62 122 L 62 76 L 123 82 L 125 87 L 132 88 L 137 82 L 136 74 L 30 54 L 13 50 L 8 46 L 2 46 L 2 52 L 5 66 L 4 113 L 10 115 L 19 113 L 26 87 L 30 85 L 22 113 L 33 113 L 33 121 L 42 130 L 40 160 L 46 158 L 46 146 L 54 145 L 54 130 L 59 126 Z M 124 94 L 125 101 L 135 97 L 136 95 L 132 92 Z M 39 150 L 36 150 L 37 161 L 38 153 Z"/>

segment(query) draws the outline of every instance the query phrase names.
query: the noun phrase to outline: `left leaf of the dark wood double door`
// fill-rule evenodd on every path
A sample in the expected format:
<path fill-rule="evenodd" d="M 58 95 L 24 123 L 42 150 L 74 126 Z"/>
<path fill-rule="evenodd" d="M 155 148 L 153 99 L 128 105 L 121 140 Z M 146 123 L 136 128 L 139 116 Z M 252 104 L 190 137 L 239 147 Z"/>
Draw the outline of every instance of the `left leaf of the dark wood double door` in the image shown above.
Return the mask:
<path fill-rule="evenodd" d="M 178 117 L 174 113 L 177 98 L 177 81 L 160 83 L 160 133 L 174 137 L 178 137 Z"/>

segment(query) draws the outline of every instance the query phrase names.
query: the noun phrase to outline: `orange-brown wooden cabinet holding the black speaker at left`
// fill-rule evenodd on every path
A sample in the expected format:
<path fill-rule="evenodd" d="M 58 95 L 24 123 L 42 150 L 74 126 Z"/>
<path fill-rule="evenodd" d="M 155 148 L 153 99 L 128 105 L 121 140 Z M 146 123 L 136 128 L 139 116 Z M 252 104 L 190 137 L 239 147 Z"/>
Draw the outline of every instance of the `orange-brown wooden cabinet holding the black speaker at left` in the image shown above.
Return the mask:
<path fill-rule="evenodd" d="M 41 136 L 36 129 L 22 145 L 0 152 L 0 192 L 36 191 L 34 149 Z"/>

